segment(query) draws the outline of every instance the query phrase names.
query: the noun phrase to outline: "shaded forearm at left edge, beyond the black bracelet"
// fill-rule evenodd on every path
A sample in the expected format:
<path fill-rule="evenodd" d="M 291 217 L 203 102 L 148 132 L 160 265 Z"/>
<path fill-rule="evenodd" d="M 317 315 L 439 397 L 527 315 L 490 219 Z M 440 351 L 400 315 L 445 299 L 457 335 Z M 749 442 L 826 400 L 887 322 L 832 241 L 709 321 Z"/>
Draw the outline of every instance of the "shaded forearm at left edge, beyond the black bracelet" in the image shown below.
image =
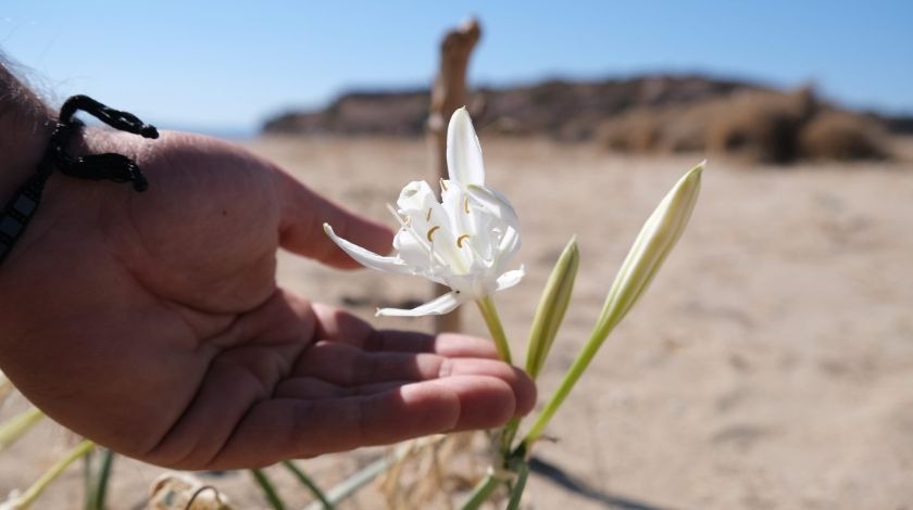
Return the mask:
<path fill-rule="evenodd" d="M 35 171 L 52 124 L 50 109 L 0 59 L 0 205 Z"/>

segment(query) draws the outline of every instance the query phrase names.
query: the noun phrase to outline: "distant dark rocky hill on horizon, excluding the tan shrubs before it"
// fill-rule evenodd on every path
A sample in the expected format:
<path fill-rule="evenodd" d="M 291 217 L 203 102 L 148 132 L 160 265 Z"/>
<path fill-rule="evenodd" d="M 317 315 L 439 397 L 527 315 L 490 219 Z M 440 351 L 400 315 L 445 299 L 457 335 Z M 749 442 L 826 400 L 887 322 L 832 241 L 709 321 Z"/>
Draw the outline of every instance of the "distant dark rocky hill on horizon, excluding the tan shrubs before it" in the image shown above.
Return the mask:
<path fill-rule="evenodd" d="M 525 87 L 476 89 L 468 103 L 479 128 L 580 140 L 591 138 L 602 120 L 629 109 L 696 103 L 742 90 L 765 88 L 701 76 L 548 80 Z M 428 89 L 353 91 L 340 95 L 324 110 L 288 112 L 272 118 L 263 131 L 421 136 L 429 103 Z"/>

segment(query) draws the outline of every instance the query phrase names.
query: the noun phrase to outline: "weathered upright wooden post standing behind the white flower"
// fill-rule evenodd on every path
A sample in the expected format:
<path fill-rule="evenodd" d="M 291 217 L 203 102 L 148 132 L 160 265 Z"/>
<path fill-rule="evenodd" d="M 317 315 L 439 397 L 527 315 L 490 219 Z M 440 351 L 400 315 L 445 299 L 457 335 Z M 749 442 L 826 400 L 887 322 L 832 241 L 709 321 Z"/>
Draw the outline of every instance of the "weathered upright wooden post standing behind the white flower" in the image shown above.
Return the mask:
<path fill-rule="evenodd" d="M 440 67 L 432 89 L 432 107 L 428 115 L 428 146 L 432 156 L 432 186 L 447 178 L 447 124 L 453 112 L 466 103 L 466 67 L 470 54 L 481 36 L 476 20 L 468 20 L 459 28 L 447 33 L 440 43 Z M 450 289 L 435 284 L 435 295 Z M 460 309 L 435 316 L 435 332 L 459 331 Z"/>

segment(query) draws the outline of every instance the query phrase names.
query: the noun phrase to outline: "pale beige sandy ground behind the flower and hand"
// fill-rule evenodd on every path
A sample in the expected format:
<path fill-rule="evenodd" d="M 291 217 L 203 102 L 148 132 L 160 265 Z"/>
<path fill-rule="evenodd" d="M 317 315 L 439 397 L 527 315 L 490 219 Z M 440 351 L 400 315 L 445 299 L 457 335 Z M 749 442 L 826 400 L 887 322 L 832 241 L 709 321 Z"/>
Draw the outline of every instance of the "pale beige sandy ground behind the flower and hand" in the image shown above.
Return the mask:
<path fill-rule="evenodd" d="M 528 277 L 497 303 L 524 352 L 548 271 L 573 234 L 581 265 L 541 398 L 599 313 L 655 203 L 700 156 L 634 157 L 589 145 L 483 139 L 489 181 L 523 220 Z M 251 149 L 364 214 L 424 178 L 421 141 L 267 139 Z M 536 456 L 525 506 L 623 509 L 913 508 L 913 165 L 752 167 L 712 158 L 689 231 L 605 343 Z M 280 256 L 283 285 L 374 319 L 424 299 L 424 281 L 342 273 Z M 484 334 L 474 308 L 470 332 Z M 10 403 L 2 416 L 21 408 Z M 0 490 L 27 486 L 67 437 L 42 425 L 0 456 Z M 376 451 L 301 462 L 329 484 Z M 80 508 L 72 470 L 37 508 Z M 112 508 L 135 508 L 161 472 L 117 464 Z M 265 508 L 247 473 L 208 477 L 238 508 Z M 309 498 L 282 477 L 289 501 Z M 382 507 L 367 492 L 348 508 Z M 347 507 L 343 507 L 347 508 Z"/>

